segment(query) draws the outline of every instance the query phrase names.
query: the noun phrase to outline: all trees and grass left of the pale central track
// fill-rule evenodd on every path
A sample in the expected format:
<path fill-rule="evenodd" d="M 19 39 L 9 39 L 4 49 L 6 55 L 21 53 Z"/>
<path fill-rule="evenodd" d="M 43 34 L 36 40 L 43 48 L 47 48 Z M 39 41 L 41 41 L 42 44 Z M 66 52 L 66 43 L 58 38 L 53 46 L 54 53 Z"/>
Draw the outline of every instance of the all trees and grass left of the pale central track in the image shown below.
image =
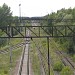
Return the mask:
<path fill-rule="evenodd" d="M 19 24 L 17 16 L 12 16 L 11 8 L 7 4 L 0 6 L 0 26 L 16 26 Z M 18 36 L 16 31 L 14 35 Z M 0 29 L 0 37 L 5 36 L 4 29 Z M 10 45 L 9 45 L 10 42 Z M 0 53 L 0 75 L 10 75 L 10 69 L 12 69 L 12 75 L 16 66 L 16 63 L 22 53 L 22 47 L 12 49 L 12 64 L 10 64 L 10 46 L 14 46 L 23 42 L 23 39 L 7 39 L 0 38 L 0 50 L 7 50 L 7 53 Z"/>

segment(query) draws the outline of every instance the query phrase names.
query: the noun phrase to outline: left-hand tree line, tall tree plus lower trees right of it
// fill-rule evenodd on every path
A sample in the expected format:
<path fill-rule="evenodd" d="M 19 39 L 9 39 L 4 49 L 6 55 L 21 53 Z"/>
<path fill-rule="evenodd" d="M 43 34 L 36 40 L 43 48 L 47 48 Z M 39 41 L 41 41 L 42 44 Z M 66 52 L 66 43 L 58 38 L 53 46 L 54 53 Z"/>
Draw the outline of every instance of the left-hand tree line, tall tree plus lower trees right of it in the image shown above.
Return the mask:
<path fill-rule="evenodd" d="M 11 8 L 7 4 L 0 6 L 0 26 L 16 26 L 19 25 L 18 16 L 12 16 Z M 5 33 L 2 32 L 3 29 L 0 29 L 0 36 L 5 36 Z M 14 31 L 15 35 L 17 34 Z M 0 38 L 0 47 L 6 45 L 7 39 Z"/>

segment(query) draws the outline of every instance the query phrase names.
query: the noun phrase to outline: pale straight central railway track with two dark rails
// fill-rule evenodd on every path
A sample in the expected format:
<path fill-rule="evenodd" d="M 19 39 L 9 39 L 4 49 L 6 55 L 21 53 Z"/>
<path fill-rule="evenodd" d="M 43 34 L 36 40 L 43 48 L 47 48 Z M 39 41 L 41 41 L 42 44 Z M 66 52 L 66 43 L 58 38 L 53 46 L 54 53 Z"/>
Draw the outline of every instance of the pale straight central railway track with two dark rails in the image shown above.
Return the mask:
<path fill-rule="evenodd" d="M 29 35 L 29 32 L 28 32 Z M 31 69 L 31 62 L 29 58 L 29 44 L 30 39 L 25 39 L 25 44 L 23 47 L 22 56 L 20 59 L 19 69 L 16 75 L 33 75 L 32 69 Z"/>

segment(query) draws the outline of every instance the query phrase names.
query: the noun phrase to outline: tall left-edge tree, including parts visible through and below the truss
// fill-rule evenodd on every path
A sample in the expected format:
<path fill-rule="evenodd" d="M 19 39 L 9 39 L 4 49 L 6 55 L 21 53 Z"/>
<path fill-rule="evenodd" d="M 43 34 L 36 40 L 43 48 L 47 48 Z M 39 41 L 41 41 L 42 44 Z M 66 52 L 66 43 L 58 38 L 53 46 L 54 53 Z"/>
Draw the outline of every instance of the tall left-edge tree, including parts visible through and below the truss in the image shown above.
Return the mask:
<path fill-rule="evenodd" d="M 12 12 L 10 7 L 8 7 L 5 3 L 0 6 L 0 26 L 8 26 L 12 24 Z M 0 29 L 0 36 L 4 36 L 5 28 Z M 0 46 L 4 46 L 6 44 L 7 39 L 0 39 Z"/>

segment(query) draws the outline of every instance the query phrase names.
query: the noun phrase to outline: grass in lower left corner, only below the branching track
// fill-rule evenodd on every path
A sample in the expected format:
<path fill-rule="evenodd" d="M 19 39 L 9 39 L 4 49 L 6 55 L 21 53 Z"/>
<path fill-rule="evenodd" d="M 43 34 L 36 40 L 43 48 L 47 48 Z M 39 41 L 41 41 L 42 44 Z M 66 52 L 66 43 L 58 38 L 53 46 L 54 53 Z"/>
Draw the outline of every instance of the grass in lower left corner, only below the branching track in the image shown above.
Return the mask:
<path fill-rule="evenodd" d="M 11 68 L 14 69 L 16 65 L 16 60 L 21 55 L 22 48 L 18 48 L 12 51 L 12 66 Z M 0 74 L 9 75 L 10 73 L 10 53 L 0 54 Z"/>

